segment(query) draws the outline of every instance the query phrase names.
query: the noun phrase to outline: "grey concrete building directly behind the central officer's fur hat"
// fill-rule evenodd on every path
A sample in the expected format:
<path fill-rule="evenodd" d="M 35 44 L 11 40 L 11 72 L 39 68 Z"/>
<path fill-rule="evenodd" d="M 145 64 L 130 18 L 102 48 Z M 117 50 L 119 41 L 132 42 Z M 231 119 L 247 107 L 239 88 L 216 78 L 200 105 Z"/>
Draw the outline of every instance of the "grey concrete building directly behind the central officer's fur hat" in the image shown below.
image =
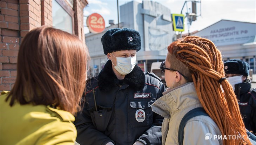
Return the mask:
<path fill-rule="evenodd" d="M 154 1 L 131 1 L 120 6 L 120 28 L 137 30 L 141 35 L 141 50 L 137 53 L 137 64 L 143 71 L 150 71 L 151 63 L 164 61 L 167 47 L 173 41 L 174 32 L 171 23 L 171 11 Z M 98 75 L 107 62 L 101 44 L 102 35 L 111 25 L 99 34 L 86 34 L 86 44 L 91 57 L 91 75 Z"/>

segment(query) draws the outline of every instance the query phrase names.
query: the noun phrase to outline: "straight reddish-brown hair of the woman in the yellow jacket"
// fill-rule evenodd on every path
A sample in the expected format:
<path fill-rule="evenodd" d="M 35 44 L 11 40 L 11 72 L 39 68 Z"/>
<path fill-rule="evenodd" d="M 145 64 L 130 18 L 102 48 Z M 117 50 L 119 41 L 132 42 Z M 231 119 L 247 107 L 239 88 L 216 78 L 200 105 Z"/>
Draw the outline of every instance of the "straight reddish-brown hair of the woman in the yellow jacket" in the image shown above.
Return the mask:
<path fill-rule="evenodd" d="M 17 77 L 6 101 L 54 105 L 75 114 L 85 90 L 87 48 L 77 36 L 39 27 L 22 40 Z"/>

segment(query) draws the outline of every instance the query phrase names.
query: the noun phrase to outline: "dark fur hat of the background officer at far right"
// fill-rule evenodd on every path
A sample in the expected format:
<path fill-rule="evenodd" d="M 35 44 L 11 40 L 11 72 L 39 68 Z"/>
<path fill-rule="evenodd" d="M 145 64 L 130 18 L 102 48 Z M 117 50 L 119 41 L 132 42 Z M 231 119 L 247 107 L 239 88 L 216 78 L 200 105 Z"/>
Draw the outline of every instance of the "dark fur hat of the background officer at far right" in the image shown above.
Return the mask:
<path fill-rule="evenodd" d="M 233 59 L 224 62 L 224 70 L 226 74 L 239 74 L 243 76 L 248 76 L 250 66 L 247 62 L 238 59 Z"/>

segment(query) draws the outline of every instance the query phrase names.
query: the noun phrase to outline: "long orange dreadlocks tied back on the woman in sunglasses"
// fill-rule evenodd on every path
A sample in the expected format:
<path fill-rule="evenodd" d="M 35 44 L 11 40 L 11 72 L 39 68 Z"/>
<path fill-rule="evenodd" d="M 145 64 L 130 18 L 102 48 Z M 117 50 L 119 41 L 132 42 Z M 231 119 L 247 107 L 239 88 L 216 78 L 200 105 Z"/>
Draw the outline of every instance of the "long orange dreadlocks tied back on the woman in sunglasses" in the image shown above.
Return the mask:
<path fill-rule="evenodd" d="M 184 63 L 191 72 L 198 98 L 222 135 L 242 136 L 223 140 L 224 145 L 251 144 L 237 103 L 236 95 L 225 76 L 221 52 L 213 42 L 197 36 L 187 36 L 171 43 L 170 54 Z M 222 92 L 221 86 L 224 90 Z"/>

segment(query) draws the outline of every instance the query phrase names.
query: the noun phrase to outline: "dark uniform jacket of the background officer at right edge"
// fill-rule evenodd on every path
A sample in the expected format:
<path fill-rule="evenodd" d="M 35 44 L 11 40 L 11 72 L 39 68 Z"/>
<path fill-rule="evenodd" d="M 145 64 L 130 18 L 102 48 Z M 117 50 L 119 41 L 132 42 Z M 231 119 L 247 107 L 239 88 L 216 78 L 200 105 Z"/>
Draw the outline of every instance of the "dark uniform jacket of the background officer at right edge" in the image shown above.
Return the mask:
<path fill-rule="evenodd" d="M 251 88 L 251 81 L 235 85 L 235 94 L 247 130 L 256 134 L 256 89 Z"/>

